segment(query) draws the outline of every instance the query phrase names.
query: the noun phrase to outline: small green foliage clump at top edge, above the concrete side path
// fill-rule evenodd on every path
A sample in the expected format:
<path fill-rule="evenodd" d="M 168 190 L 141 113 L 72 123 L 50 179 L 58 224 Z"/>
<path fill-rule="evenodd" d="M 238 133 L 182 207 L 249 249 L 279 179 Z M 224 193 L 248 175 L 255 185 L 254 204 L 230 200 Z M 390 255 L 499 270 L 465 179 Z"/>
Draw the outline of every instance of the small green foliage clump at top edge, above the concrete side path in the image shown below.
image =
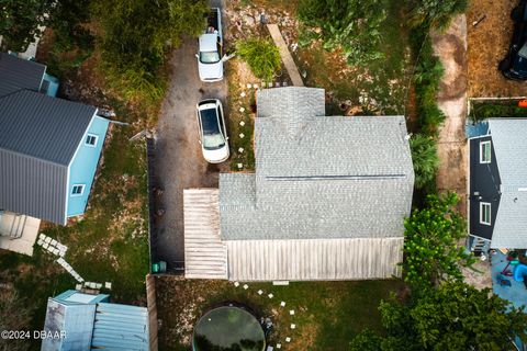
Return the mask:
<path fill-rule="evenodd" d="M 427 24 L 431 29 L 446 29 L 453 15 L 467 10 L 468 0 L 413 0 L 410 10 L 410 25 Z"/>

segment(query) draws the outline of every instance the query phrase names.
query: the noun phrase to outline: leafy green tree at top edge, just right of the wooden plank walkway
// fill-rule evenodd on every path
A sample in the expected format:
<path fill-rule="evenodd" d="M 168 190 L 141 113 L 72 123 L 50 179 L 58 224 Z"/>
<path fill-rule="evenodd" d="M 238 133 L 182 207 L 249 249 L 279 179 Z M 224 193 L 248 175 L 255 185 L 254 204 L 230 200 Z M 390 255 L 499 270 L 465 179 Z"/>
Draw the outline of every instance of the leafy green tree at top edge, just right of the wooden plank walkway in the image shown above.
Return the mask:
<path fill-rule="evenodd" d="M 300 43 L 323 39 L 325 49 L 343 49 L 351 66 L 383 58 L 380 26 L 386 19 L 383 0 L 301 0 L 298 16 L 305 25 Z"/>

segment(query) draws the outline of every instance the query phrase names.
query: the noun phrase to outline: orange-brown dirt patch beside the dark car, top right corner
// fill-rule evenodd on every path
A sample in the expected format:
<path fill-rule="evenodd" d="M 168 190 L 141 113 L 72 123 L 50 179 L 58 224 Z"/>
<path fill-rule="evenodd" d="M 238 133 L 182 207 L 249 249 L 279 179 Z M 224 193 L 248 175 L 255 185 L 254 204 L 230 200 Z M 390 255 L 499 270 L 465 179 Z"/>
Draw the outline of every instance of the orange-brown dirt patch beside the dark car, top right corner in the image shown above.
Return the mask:
<path fill-rule="evenodd" d="M 517 0 L 471 0 L 467 12 L 469 97 L 498 98 L 527 94 L 527 82 L 505 79 L 497 70 L 513 36 L 511 11 Z M 482 15 L 486 18 L 472 26 Z"/>

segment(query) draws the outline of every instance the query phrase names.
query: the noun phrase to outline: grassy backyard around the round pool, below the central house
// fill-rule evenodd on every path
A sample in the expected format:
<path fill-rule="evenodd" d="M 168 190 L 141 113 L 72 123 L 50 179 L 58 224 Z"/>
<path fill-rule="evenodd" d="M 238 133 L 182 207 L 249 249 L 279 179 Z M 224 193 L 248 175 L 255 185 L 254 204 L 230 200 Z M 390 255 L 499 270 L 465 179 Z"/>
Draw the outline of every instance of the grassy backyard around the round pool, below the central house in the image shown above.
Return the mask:
<path fill-rule="evenodd" d="M 400 280 L 298 282 L 288 286 L 248 283 L 248 290 L 242 285 L 157 278 L 160 350 L 189 350 L 198 318 L 225 302 L 242 303 L 257 317 L 270 317 L 274 324 L 271 346 L 281 340 L 283 350 L 346 350 L 354 336 L 365 327 L 380 330 L 380 301 L 403 287 Z M 259 295 L 258 290 L 264 294 Z M 274 296 L 269 298 L 269 293 Z M 281 301 L 287 303 L 283 308 Z M 293 316 L 289 314 L 291 309 Z M 296 328 L 291 329 L 291 324 Z M 283 342 L 285 337 L 292 338 L 291 343 Z"/>

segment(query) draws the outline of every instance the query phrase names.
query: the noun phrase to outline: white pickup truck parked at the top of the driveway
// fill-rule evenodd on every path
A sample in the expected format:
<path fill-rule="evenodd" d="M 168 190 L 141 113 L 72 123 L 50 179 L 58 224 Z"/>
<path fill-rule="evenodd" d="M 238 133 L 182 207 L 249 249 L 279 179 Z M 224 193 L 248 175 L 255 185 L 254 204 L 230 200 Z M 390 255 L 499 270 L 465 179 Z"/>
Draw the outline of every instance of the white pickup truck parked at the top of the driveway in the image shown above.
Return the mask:
<path fill-rule="evenodd" d="M 202 81 L 218 81 L 223 79 L 223 34 L 222 13 L 218 8 L 212 8 L 206 18 L 205 32 L 200 35 L 200 53 L 198 70 Z"/>

